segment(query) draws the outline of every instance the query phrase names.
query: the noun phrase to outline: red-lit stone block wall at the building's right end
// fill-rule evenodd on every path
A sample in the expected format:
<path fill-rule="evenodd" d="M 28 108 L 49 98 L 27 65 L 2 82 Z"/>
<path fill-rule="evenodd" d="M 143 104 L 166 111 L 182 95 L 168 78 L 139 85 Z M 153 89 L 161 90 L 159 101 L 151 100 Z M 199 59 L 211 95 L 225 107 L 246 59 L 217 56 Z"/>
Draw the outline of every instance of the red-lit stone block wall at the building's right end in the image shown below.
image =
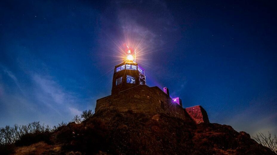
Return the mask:
<path fill-rule="evenodd" d="M 196 105 L 193 107 L 185 108 L 187 113 L 193 119 L 193 121 L 198 123 L 210 123 L 206 110 L 200 105 Z"/>

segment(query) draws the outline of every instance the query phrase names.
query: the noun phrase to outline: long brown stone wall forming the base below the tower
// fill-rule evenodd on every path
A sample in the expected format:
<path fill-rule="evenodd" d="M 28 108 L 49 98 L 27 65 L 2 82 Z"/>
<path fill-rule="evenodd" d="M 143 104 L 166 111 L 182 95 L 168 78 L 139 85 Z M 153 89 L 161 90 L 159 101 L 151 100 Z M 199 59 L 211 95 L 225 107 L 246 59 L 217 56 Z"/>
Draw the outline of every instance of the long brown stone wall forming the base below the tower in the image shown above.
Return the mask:
<path fill-rule="evenodd" d="M 173 102 L 160 88 L 145 85 L 135 86 L 96 101 L 95 113 L 106 108 L 122 112 L 133 110 L 135 113 L 152 115 L 165 113 L 183 120 L 191 120 L 186 110 Z"/>

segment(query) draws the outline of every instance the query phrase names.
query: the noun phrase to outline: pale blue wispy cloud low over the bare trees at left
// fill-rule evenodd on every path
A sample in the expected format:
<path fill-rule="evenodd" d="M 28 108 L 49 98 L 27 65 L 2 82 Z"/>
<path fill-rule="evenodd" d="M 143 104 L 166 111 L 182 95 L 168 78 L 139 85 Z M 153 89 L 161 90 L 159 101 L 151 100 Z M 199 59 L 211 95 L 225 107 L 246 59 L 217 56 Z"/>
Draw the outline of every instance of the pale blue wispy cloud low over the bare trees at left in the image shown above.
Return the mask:
<path fill-rule="evenodd" d="M 30 78 L 28 87 L 24 87 L 24 85 L 21 87 L 18 78 L 12 71 L 2 66 L 0 69 L 21 90 L 21 92 L 14 91 L 14 88 L 10 87 L 8 83 L 1 83 L 3 79 L 0 76 L 1 126 L 15 123 L 25 124 L 30 121 L 55 125 L 61 121 L 70 121 L 74 115 L 81 114 L 79 104 L 85 102 L 85 99 L 79 98 L 78 94 L 63 88 L 51 76 L 30 74 L 27 76 Z M 3 121 L 5 118 L 13 121 L 10 119 Z"/>

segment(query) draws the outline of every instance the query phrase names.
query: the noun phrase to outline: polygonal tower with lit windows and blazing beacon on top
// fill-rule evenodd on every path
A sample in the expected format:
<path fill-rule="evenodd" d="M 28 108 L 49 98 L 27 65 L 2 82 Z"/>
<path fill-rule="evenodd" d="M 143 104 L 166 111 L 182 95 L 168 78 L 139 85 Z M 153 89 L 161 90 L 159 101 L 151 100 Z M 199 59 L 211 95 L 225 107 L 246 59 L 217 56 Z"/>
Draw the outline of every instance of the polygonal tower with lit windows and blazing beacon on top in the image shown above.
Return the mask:
<path fill-rule="evenodd" d="M 146 85 L 144 69 L 136 63 L 128 50 L 126 60 L 114 68 L 112 94 L 139 85 Z"/>

